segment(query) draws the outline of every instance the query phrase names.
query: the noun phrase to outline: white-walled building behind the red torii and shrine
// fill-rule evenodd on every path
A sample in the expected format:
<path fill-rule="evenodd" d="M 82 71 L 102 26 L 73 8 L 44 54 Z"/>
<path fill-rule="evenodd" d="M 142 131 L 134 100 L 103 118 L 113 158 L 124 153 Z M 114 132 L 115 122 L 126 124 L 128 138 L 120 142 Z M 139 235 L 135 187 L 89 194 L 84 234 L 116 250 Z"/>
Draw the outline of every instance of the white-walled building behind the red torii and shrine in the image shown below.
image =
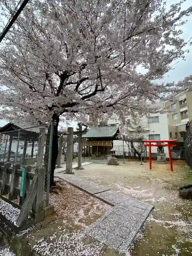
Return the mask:
<path fill-rule="evenodd" d="M 118 120 L 115 120 L 114 118 L 111 118 L 108 120 L 108 125 L 112 124 L 118 124 Z M 131 127 L 132 126 L 132 127 Z M 133 125 L 127 125 L 127 130 L 132 132 L 134 134 L 135 129 L 133 128 Z M 169 134 L 168 134 L 168 123 L 167 123 L 167 114 L 152 114 L 149 118 L 143 117 L 138 125 L 135 127 L 140 126 L 144 132 L 141 134 L 144 135 L 145 139 L 147 140 L 168 140 Z M 131 137 L 131 136 L 130 136 Z M 123 141 L 122 140 L 114 140 L 113 146 L 117 152 L 118 155 L 123 155 Z M 126 152 L 126 155 L 128 155 L 129 152 L 129 146 L 124 142 L 124 151 Z M 164 152 L 166 154 L 166 157 L 168 158 L 168 148 L 164 147 Z M 155 157 L 157 153 L 157 147 L 152 147 L 152 157 Z M 147 148 L 147 156 L 148 156 L 148 148 Z"/>

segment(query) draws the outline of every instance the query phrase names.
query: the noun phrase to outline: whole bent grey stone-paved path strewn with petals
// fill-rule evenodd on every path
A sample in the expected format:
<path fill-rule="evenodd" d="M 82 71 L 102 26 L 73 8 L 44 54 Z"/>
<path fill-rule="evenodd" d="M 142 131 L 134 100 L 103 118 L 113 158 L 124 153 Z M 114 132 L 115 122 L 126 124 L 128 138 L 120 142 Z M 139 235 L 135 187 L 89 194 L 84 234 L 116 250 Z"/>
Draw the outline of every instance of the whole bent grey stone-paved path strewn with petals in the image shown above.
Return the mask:
<path fill-rule="evenodd" d="M 74 175 L 57 173 L 57 177 L 114 206 L 84 233 L 119 253 L 125 253 L 153 206 Z"/>

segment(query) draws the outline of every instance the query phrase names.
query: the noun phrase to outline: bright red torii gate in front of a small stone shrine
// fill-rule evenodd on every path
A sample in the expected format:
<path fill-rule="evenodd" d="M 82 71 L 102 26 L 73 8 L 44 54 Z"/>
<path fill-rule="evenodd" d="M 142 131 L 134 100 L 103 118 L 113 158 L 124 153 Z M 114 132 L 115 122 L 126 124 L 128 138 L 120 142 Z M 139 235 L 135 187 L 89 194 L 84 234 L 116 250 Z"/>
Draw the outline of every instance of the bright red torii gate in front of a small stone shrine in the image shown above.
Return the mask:
<path fill-rule="evenodd" d="M 152 169 L 152 146 L 156 146 L 156 147 L 167 146 L 168 147 L 169 162 L 170 162 L 170 170 L 173 172 L 172 154 L 170 152 L 170 146 L 176 146 L 176 145 L 175 144 L 170 144 L 170 143 L 176 142 L 176 141 L 177 140 L 143 140 L 144 143 L 148 143 L 148 144 L 144 144 L 144 146 L 149 147 L 150 170 Z M 163 143 L 165 142 L 167 144 L 161 144 L 161 142 L 163 142 Z M 153 144 L 153 143 L 156 143 L 156 144 Z"/>

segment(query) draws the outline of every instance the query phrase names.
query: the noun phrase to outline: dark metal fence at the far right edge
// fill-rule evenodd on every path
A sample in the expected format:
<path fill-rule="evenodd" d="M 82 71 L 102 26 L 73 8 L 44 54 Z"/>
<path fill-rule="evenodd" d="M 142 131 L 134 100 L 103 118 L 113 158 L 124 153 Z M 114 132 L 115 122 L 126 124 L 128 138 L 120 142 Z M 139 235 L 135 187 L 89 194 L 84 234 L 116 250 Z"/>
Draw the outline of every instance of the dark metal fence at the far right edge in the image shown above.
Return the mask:
<path fill-rule="evenodd" d="M 186 133 L 184 137 L 184 148 L 184 156 L 186 163 L 192 170 L 192 121 L 190 121 L 186 127 Z"/>

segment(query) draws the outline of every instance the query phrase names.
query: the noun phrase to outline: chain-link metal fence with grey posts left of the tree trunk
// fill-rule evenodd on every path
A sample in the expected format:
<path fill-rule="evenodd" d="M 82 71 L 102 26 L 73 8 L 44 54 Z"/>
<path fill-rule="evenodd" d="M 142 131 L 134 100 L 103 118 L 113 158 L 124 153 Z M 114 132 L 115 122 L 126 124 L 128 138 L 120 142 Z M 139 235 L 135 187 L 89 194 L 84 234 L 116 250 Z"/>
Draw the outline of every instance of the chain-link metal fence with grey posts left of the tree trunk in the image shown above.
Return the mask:
<path fill-rule="evenodd" d="M 53 124 L 50 131 L 47 125 L 33 126 L 0 133 L 0 138 L 0 161 L 19 163 L 22 168 L 30 165 L 31 172 L 45 166 L 45 202 L 49 204 Z"/>

